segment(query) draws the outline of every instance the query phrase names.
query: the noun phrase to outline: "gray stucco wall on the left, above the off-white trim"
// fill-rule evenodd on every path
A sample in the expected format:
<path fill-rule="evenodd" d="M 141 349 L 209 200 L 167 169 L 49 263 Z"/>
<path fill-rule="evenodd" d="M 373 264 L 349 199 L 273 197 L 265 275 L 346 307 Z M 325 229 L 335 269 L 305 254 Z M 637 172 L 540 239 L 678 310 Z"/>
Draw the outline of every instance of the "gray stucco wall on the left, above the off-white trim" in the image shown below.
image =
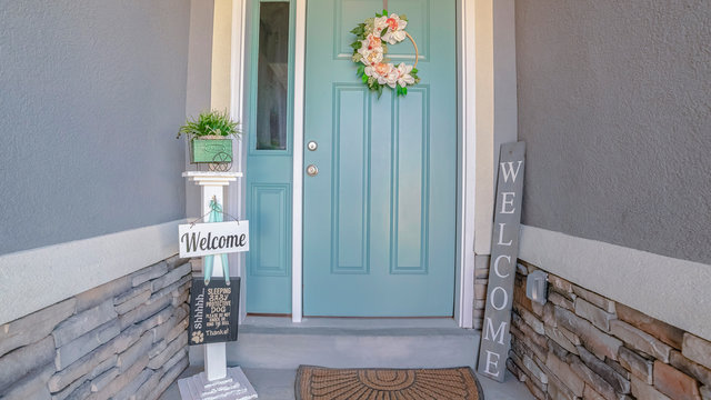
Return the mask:
<path fill-rule="evenodd" d="M 0 254 L 184 218 L 189 0 L 0 0 Z"/>

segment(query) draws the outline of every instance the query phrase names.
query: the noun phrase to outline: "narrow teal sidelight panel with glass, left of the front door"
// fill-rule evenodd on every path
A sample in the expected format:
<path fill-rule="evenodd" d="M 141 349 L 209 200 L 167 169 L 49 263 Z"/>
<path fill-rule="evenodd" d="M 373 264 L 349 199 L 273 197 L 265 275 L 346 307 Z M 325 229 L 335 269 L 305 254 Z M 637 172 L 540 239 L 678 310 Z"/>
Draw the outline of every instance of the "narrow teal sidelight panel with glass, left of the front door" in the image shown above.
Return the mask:
<path fill-rule="evenodd" d="M 253 0 L 247 109 L 247 312 L 291 313 L 296 1 Z M 299 149 L 298 151 L 301 151 Z"/>

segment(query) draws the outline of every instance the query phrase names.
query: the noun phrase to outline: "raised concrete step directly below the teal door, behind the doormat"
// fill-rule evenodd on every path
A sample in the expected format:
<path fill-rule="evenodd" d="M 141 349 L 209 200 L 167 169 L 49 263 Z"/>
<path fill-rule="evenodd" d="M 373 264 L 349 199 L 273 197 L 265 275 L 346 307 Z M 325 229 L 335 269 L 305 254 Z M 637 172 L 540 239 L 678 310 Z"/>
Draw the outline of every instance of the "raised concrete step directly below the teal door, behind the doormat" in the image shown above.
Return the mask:
<path fill-rule="evenodd" d="M 445 368 L 477 361 L 480 332 L 451 318 L 361 319 L 248 317 L 228 343 L 228 364 L 296 369 Z"/>

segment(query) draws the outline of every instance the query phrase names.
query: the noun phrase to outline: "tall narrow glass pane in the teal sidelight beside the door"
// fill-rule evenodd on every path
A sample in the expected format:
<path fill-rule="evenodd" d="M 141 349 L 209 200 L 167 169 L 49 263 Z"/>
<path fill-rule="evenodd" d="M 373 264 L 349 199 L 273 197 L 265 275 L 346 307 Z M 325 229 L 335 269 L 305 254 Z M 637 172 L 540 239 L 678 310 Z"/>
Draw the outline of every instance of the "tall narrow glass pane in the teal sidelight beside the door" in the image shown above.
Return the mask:
<path fill-rule="evenodd" d="M 287 149 L 289 3 L 262 2 L 259 12 L 257 150 Z"/>

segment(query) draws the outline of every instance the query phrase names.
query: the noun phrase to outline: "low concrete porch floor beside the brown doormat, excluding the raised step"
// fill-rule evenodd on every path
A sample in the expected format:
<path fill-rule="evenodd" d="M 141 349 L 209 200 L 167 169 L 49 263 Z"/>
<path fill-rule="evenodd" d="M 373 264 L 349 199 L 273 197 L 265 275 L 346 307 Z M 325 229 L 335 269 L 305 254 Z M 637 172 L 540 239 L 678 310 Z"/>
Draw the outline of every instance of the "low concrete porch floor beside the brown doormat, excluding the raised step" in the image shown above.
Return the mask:
<path fill-rule="evenodd" d="M 244 374 L 257 390 L 260 400 L 293 400 L 297 370 L 243 368 Z M 189 367 L 179 379 L 191 377 L 202 371 L 202 367 Z M 509 371 L 503 383 L 477 374 L 487 400 L 528 400 L 533 399 L 525 386 L 519 382 Z M 178 382 L 166 390 L 160 400 L 180 400 Z M 444 399 L 442 399 L 444 400 Z"/>

